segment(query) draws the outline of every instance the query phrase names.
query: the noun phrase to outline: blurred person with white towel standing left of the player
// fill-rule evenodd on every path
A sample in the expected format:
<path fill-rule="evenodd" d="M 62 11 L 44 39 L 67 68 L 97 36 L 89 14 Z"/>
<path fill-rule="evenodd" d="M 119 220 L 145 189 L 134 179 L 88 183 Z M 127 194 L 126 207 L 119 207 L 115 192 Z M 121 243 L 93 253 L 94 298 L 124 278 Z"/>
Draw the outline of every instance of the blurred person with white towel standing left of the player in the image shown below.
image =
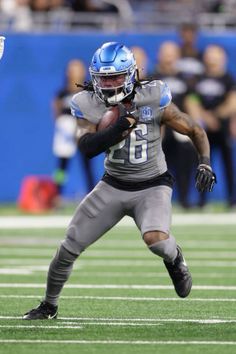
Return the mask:
<path fill-rule="evenodd" d="M 72 96 L 80 89 L 76 83 L 84 83 L 86 77 L 86 67 L 80 60 L 69 61 L 66 69 L 65 86 L 57 93 L 54 101 L 55 135 L 53 142 L 53 151 L 58 159 L 57 169 L 54 179 L 57 184 L 58 194 L 63 194 L 63 187 L 67 178 L 69 162 L 77 150 L 76 143 L 76 121 L 71 116 L 70 102 Z M 86 192 L 94 187 L 94 177 L 92 173 L 91 160 L 80 154 L 82 166 L 86 176 Z"/>

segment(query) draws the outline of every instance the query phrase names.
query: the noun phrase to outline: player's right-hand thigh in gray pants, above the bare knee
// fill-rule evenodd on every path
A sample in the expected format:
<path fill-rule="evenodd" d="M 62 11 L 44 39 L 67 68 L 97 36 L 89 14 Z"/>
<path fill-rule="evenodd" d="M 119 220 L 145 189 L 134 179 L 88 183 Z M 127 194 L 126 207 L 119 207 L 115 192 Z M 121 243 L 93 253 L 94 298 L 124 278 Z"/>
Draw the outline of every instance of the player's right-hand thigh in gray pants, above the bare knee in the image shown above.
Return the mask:
<path fill-rule="evenodd" d="M 148 231 L 170 233 L 172 189 L 156 186 L 142 191 L 135 206 L 134 220 L 142 235 Z"/>

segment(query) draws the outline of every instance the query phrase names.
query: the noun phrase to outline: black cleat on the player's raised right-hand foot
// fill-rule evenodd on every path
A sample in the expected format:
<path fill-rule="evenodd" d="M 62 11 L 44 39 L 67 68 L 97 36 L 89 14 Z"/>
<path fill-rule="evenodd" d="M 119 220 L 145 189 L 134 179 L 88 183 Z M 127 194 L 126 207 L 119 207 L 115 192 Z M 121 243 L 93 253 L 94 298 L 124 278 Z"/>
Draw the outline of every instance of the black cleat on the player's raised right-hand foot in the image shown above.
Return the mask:
<path fill-rule="evenodd" d="M 192 288 L 192 277 L 179 246 L 177 246 L 177 252 L 177 257 L 173 263 L 164 261 L 164 264 L 172 279 L 176 293 L 180 297 L 186 297 Z"/>

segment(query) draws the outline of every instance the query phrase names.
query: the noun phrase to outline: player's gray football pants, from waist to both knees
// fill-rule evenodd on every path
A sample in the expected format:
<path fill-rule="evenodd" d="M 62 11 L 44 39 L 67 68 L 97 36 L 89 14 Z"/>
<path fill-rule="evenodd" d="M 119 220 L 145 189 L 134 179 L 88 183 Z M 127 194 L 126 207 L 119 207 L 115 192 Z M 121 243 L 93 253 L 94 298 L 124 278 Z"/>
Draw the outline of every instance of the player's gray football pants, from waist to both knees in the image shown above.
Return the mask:
<path fill-rule="evenodd" d="M 79 204 L 62 245 L 79 255 L 125 215 L 134 219 L 142 235 L 153 230 L 169 234 L 171 196 L 168 186 L 128 192 L 101 181 Z"/>

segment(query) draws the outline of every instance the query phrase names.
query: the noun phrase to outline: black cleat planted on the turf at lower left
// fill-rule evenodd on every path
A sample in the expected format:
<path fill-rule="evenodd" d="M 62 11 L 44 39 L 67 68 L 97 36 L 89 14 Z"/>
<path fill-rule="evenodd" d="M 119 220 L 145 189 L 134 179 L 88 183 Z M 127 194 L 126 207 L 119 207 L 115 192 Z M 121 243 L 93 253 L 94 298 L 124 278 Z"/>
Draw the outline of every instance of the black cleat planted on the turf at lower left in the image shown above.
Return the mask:
<path fill-rule="evenodd" d="M 23 320 L 52 320 L 57 318 L 57 306 L 46 301 L 23 315 Z"/>

